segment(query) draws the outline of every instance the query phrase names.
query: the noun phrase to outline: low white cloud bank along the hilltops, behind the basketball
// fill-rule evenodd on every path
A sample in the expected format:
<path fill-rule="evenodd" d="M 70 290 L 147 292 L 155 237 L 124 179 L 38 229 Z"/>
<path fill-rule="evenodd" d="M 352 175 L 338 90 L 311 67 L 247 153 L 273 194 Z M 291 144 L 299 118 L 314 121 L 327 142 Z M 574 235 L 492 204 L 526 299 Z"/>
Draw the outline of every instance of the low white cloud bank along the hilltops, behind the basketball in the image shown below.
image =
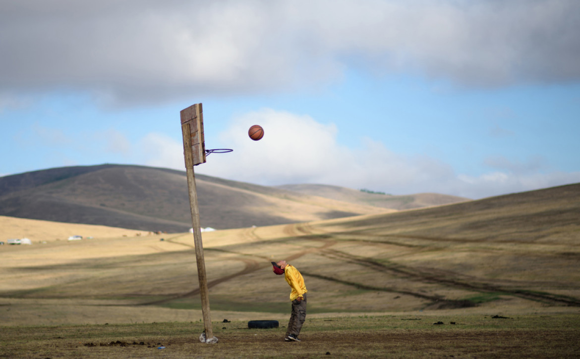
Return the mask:
<path fill-rule="evenodd" d="M 263 126 L 262 140 L 248 137 L 253 124 Z M 541 173 L 546 169 L 541 158 L 515 163 L 490 157 L 492 171 L 470 176 L 455 173 L 449 164 L 429 155 L 395 153 L 369 138 L 361 137 L 356 148 L 348 148 L 338 144 L 337 135 L 334 124 L 307 115 L 268 108 L 244 113 L 231 119 L 216 143 L 234 151 L 209 155 L 195 173 L 262 185 L 329 184 L 395 195 L 434 192 L 472 199 L 580 182 L 580 173 Z M 184 170 L 180 141 L 148 134 L 139 148 L 142 163 Z"/>

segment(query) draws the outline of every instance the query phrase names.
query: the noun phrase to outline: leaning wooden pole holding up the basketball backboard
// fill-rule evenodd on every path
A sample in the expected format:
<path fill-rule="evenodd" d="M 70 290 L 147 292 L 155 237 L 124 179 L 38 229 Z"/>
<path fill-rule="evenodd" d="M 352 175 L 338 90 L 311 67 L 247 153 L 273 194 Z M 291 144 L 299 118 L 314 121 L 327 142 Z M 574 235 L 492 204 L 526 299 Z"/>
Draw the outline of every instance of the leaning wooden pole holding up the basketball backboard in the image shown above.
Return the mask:
<path fill-rule="evenodd" d="M 198 115 L 201 115 L 201 113 L 198 113 Z M 218 338 L 213 337 L 212 319 L 209 312 L 208 279 L 205 274 L 204 246 L 201 240 L 200 211 L 197 202 L 195 173 L 193 170 L 194 153 L 191 151 L 191 134 L 190 123 L 184 123 L 182 111 L 183 153 L 185 156 L 187 172 L 187 188 L 189 189 L 191 222 L 193 224 L 193 240 L 195 244 L 195 261 L 197 262 L 197 277 L 200 282 L 201 311 L 204 317 L 205 338 L 208 343 L 215 343 L 217 342 Z"/>

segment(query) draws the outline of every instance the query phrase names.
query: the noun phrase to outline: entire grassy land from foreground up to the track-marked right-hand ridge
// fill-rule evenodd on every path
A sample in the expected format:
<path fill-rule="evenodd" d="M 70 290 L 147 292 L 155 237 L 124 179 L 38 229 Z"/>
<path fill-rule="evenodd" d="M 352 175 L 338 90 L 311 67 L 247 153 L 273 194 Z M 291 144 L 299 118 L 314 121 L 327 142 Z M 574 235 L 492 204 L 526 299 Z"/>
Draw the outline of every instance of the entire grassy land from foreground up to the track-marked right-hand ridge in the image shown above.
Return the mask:
<path fill-rule="evenodd" d="M 205 232 L 215 347 L 189 233 L 2 246 L 0 357 L 578 357 L 579 193 Z M 291 349 L 246 329 L 288 321 L 277 259 L 309 289 Z"/>

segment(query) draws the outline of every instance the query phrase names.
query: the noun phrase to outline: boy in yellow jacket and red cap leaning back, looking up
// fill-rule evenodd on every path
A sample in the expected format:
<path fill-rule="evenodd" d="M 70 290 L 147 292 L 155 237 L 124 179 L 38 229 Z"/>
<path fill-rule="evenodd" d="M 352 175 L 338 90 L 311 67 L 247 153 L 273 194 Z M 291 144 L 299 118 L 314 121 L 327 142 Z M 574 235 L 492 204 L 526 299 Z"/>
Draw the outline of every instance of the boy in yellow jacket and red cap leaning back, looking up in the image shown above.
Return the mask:
<path fill-rule="evenodd" d="M 277 275 L 284 274 L 284 279 L 288 282 L 292 291 L 290 300 L 292 301 L 292 314 L 288 322 L 288 329 L 284 340 L 287 342 L 300 342 L 298 335 L 302 324 L 306 319 L 306 285 L 302 274 L 294 266 L 289 265 L 286 261 L 272 262 L 274 273 Z"/>

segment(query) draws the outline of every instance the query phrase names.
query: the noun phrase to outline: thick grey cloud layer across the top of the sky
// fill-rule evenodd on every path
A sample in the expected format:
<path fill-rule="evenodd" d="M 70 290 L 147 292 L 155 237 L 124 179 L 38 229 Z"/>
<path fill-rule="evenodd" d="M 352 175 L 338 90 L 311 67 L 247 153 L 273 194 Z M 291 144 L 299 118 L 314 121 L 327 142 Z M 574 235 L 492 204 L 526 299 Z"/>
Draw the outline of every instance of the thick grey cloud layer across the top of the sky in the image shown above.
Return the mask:
<path fill-rule="evenodd" d="M 580 78 L 580 3 L 0 1 L 0 91 L 103 103 L 288 91 L 348 65 L 461 86 Z"/>

